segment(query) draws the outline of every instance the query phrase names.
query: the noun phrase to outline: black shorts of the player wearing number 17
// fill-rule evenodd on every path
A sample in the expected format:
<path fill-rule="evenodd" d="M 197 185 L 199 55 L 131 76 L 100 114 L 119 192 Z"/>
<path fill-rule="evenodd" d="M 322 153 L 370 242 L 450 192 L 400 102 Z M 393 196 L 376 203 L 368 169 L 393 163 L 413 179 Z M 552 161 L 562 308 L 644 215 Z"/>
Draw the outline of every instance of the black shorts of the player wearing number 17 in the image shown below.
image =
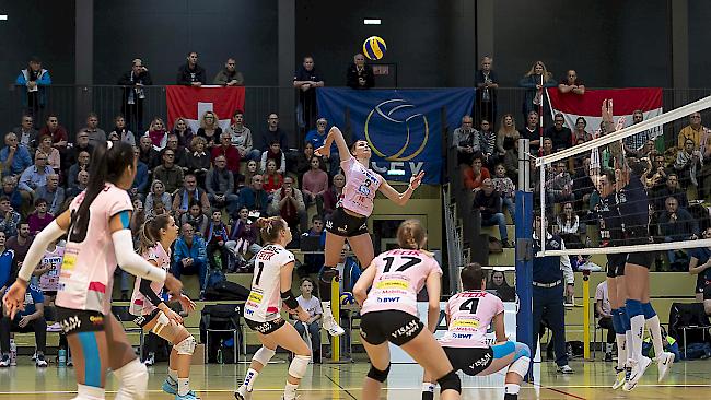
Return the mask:
<path fill-rule="evenodd" d="M 373 345 L 388 341 L 400 346 L 415 339 L 422 329 L 424 323 L 405 311 L 373 311 L 361 316 L 361 338 Z"/>

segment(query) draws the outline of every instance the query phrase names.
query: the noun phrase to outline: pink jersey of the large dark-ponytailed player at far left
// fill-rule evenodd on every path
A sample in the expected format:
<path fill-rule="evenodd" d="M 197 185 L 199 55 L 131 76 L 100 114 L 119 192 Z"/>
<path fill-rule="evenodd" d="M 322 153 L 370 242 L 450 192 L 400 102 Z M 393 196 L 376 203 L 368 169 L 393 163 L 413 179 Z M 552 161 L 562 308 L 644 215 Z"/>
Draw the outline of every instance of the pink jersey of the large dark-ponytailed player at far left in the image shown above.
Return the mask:
<path fill-rule="evenodd" d="M 72 200 L 71 212 L 79 210 L 85 191 Z M 59 273 L 56 304 L 60 307 L 110 313 L 116 270 L 116 252 L 108 221 L 121 211 L 132 211 L 126 190 L 106 184 L 89 207 L 89 225 L 83 237 L 69 233 Z M 73 242 L 78 240 L 78 242 Z M 133 251 L 133 249 L 126 249 Z"/>

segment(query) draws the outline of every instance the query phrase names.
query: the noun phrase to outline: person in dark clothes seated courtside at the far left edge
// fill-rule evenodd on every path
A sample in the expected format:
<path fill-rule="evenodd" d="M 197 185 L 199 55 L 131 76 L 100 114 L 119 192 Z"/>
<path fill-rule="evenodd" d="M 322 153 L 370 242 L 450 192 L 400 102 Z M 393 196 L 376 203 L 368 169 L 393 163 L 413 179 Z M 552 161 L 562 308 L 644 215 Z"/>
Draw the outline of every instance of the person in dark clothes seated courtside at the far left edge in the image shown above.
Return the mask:
<path fill-rule="evenodd" d="M 4 249 L 2 249 L 4 250 Z M 5 257 L 3 254 L 0 257 Z M 45 296 L 39 287 L 35 285 L 27 286 L 25 303 L 23 309 L 15 314 L 10 320 L 5 313 L 0 315 L 0 346 L 2 348 L 2 358 L 0 367 L 10 366 L 10 333 L 11 332 L 35 332 L 35 366 L 46 367 L 45 351 L 47 350 L 47 320 L 45 319 Z M 4 309 L 4 305 L 3 305 Z"/>

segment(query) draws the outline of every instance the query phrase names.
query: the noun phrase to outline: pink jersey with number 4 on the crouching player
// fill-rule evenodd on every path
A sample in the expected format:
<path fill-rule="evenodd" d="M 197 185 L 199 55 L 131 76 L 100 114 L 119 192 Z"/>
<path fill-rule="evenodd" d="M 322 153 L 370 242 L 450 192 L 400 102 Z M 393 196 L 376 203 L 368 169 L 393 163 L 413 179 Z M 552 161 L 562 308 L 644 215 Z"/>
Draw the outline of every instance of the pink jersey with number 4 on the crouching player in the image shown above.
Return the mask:
<path fill-rule="evenodd" d="M 445 348 L 487 348 L 487 330 L 493 317 L 503 313 L 503 303 L 485 291 L 457 293 L 444 310 L 450 316 L 450 327 L 440 339 Z"/>

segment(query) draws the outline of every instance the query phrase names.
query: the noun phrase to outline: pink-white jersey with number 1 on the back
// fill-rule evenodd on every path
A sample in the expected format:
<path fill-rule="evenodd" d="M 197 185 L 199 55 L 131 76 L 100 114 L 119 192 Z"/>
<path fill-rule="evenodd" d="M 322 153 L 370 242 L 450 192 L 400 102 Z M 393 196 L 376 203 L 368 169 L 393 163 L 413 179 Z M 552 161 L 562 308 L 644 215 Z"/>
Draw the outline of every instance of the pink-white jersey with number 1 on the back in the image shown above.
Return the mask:
<path fill-rule="evenodd" d="M 281 310 L 281 268 L 294 261 L 294 255 L 280 245 L 270 244 L 257 252 L 252 291 L 244 305 L 244 317 L 255 322 L 279 318 Z"/>

